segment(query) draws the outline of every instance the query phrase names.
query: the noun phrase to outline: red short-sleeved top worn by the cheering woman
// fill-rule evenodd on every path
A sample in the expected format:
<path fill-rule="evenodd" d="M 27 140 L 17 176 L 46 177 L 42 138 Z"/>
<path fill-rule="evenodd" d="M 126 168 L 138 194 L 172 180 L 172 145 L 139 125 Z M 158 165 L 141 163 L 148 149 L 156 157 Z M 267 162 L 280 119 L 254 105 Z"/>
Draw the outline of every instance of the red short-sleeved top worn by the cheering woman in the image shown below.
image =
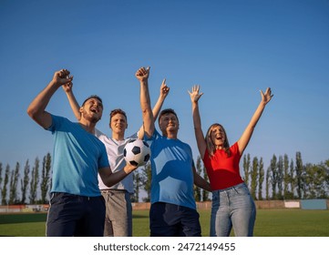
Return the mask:
<path fill-rule="evenodd" d="M 230 148 L 229 157 L 224 149 L 217 149 L 213 157 L 209 158 L 208 149 L 206 149 L 203 158 L 204 167 L 211 182 L 211 189 L 227 189 L 243 182 L 240 175 L 240 152 L 236 142 Z"/>

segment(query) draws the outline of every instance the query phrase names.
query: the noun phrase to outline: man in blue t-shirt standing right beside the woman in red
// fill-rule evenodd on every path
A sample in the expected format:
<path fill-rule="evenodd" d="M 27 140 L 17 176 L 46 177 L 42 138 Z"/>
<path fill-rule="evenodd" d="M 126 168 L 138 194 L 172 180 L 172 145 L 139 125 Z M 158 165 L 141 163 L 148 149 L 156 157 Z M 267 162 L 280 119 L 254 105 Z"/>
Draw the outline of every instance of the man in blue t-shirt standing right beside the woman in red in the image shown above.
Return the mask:
<path fill-rule="evenodd" d="M 211 191 L 207 181 L 196 173 L 191 148 L 177 137 L 179 119 L 173 109 L 159 114 L 160 135 L 154 127 L 149 99 L 149 67 L 136 73 L 140 83 L 140 107 L 145 138 L 151 149 L 150 236 L 200 237 L 193 184 Z"/>

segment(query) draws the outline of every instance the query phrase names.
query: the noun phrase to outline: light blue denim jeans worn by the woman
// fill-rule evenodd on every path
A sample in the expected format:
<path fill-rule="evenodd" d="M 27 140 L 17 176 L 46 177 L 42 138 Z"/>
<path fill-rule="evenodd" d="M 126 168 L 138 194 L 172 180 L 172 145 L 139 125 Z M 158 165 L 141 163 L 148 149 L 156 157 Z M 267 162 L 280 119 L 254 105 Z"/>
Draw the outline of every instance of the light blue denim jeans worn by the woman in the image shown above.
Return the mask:
<path fill-rule="evenodd" d="M 245 183 L 212 191 L 211 237 L 252 237 L 256 207 Z"/>

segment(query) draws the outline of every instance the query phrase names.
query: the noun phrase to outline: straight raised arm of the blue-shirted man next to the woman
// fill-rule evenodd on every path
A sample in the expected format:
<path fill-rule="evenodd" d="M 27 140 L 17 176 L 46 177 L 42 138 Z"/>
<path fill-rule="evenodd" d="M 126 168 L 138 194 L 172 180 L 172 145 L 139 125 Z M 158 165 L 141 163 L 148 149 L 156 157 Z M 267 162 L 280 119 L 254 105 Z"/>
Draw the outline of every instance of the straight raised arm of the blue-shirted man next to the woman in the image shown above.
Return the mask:
<path fill-rule="evenodd" d="M 151 137 L 154 132 L 154 118 L 149 98 L 149 67 L 141 67 L 135 75 L 140 84 L 140 108 L 143 117 L 144 132 Z"/>

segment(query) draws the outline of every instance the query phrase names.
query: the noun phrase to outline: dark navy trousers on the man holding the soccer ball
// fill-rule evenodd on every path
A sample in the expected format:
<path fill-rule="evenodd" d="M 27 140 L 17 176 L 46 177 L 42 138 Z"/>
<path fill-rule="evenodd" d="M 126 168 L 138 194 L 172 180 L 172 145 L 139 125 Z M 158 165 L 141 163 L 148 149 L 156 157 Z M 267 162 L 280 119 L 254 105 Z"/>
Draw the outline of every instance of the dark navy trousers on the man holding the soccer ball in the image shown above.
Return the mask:
<path fill-rule="evenodd" d="M 46 219 L 46 236 L 102 237 L 104 220 L 105 201 L 102 196 L 54 192 Z"/>

